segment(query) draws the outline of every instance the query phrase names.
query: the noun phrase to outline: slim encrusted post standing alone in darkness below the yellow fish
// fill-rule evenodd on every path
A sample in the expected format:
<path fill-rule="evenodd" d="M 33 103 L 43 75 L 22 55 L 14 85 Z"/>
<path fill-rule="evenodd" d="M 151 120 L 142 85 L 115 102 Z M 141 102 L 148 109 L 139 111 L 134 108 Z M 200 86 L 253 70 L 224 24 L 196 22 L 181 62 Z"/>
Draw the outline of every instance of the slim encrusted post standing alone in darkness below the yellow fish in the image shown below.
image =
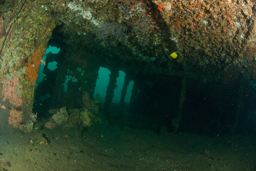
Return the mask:
<path fill-rule="evenodd" d="M 181 98 L 179 99 L 179 107 L 178 107 L 178 114 L 175 117 L 175 119 L 173 119 L 172 121 L 172 125 L 173 125 L 173 129 L 174 129 L 174 133 L 177 132 L 178 128 L 179 128 L 179 123 L 181 122 L 181 117 L 182 117 L 182 109 L 183 109 L 183 104 L 186 98 L 186 89 L 187 89 L 187 79 L 183 78 L 182 80 L 182 88 L 181 88 Z"/>

